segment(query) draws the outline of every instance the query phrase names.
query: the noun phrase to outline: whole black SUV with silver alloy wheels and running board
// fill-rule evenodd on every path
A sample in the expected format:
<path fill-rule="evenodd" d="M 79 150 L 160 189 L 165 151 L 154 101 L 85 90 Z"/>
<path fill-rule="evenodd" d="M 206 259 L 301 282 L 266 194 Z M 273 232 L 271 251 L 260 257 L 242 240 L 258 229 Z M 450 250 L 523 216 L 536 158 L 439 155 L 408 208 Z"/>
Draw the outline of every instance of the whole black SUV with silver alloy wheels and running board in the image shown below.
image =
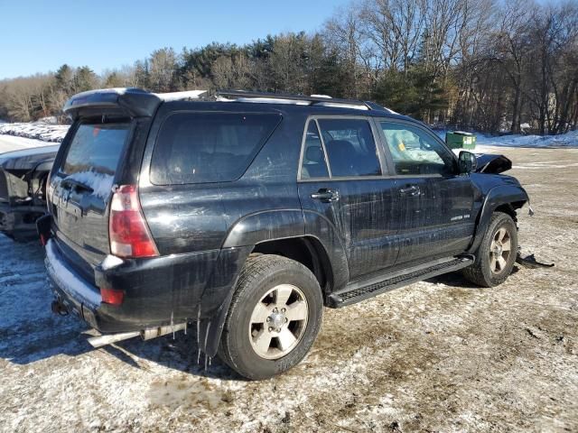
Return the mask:
<path fill-rule="evenodd" d="M 74 124 L 38 228 L 52 308 L 98 329 L 93 345 L 196 322 L 200 351 L 264 379 L 303 359 L 323 306 L 511 272 L 528 198 L 496 174 L 505 158 L 476 170 L 472 153 L 369 102 L 180 98 L 99 90 L 64 108 Z"/>

